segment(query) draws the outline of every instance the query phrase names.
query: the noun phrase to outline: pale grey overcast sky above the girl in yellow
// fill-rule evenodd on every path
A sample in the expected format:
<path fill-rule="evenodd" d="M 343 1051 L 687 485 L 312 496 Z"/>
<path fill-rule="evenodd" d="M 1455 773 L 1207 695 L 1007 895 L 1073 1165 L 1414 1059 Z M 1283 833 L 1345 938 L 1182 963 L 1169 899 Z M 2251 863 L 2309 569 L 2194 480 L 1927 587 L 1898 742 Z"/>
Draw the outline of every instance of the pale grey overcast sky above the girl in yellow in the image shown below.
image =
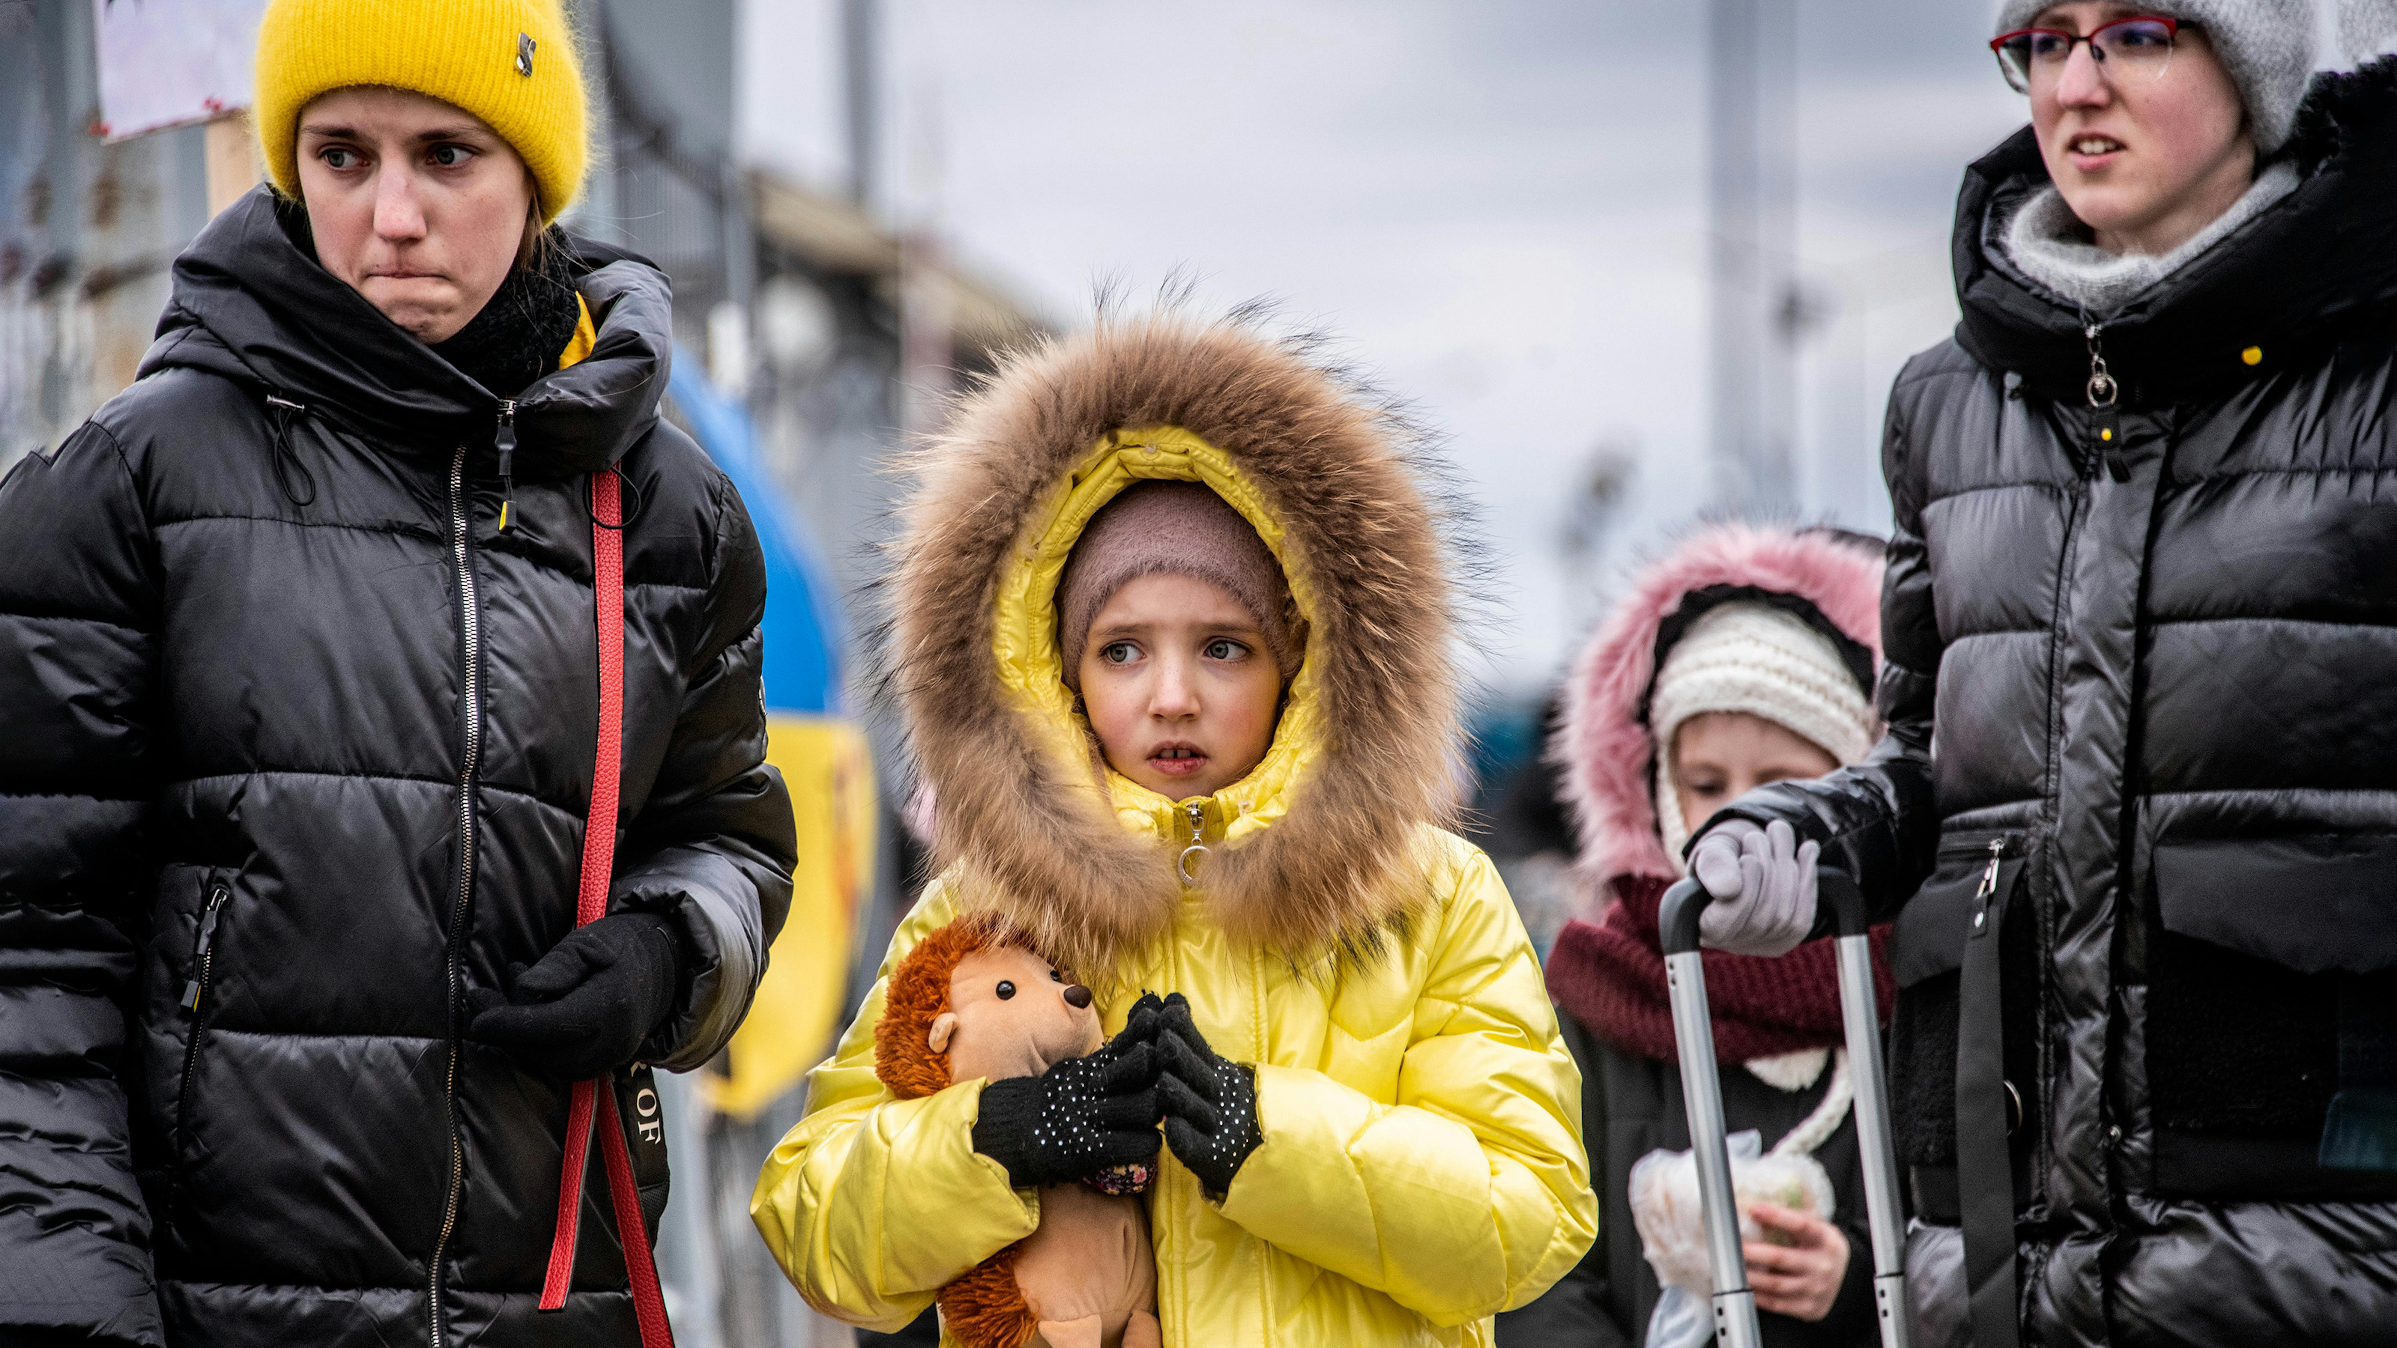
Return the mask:
<path fill-rule="evenodd" d="M 834 0 L 748 0 L 748 156 L 837 184 Z M 1270 295 L 1448 436 L 1503 591 L 1484 675 L 1553 675 L 1625 565 L 1707 503 L 1702 2 L 889 0 L 884 211 L 1052 321 L 1184 268 Z M 2023 122 L 1968 0 L 1807 0 L 1800 266 L 1834 302 L 1800 364 L 1807 517 L 1884 529 L 1898 364 L 1956 321 L 1968 160 Z M 932 151 L 932 153 L 928 153 Z M 937 160 L 937 170 L 932 170 Z M 1637 476 L 1565 575 L 1596 445 Z"/>

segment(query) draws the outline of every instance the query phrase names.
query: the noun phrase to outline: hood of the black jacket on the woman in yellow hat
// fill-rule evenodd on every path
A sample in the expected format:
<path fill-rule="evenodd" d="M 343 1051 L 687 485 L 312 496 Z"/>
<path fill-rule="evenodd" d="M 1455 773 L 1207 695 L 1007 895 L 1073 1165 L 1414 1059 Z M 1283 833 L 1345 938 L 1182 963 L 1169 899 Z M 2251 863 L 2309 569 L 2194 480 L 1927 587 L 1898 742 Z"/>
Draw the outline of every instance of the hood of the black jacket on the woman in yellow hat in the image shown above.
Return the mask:
<path fill-rule="evenodd" d="M 300 402 L 357 436 L 446 453 L 489 445 L 499 395 L 384 318 L 295 237 L 259 187 L 175 259 L 173 297 L 141 374 L 189 366 Z M 674 362 L 674 290 L 645 259 L 566 239 L 597 326 L 590 357 L 515 397 L 518 476 L 573 476 L 621 460 L 657 421 Z"/>

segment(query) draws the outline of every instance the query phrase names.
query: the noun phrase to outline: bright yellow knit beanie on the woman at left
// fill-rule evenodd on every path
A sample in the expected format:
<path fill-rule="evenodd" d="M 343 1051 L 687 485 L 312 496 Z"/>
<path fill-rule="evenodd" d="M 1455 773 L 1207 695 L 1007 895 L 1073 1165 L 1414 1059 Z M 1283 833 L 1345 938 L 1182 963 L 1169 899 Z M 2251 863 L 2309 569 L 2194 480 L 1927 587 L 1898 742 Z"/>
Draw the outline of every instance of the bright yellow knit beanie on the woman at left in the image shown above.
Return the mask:
<path fill-rule="evenodd" d="M 532 170 L 544 225 L 582 189 L 582 69 L 559 0 L 273 0 L 256 72 L 252 120 L 288 196 L 300 194 L 300 110 L 352 84 L 482 117 Z"/>

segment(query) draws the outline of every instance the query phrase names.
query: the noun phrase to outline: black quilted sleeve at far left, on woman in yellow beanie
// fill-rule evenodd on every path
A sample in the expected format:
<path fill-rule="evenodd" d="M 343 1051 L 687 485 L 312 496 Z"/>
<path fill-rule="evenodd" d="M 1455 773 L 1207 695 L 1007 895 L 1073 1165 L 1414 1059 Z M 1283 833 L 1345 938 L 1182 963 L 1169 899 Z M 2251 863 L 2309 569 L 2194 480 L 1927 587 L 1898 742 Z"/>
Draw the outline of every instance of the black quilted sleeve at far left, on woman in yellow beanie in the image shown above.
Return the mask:
<path fill-rule="evenodd" d="M 0 1341 L 161 1343 L 125 1013 L 149 891 L 158 575 L 86 424 L 0 481 Z"/>

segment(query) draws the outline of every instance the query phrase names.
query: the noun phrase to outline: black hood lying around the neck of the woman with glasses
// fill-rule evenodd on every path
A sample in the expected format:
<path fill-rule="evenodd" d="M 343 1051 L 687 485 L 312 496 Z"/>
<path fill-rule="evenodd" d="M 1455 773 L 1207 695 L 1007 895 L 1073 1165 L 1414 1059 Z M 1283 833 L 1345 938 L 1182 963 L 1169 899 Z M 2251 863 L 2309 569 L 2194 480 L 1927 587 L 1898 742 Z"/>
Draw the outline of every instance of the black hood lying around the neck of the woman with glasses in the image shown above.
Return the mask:
<path fill-rule="evenodd" d="M 2129 407 L 2268 378 L 2397 302 L 2397 60 L 2320 74 L 2287 151 L 2301 182 L 2112 316 L 2083 316 L 2006 261 L 2006 223 L 2049 184 L 2023 127 L 1966 170 L 1956 199 L 1956 342 L 2045 397 L 2081 402 L 2085 326 L 2102 318 Z M 2253 352 L 2253 359 L 2251 359 Z"/>

